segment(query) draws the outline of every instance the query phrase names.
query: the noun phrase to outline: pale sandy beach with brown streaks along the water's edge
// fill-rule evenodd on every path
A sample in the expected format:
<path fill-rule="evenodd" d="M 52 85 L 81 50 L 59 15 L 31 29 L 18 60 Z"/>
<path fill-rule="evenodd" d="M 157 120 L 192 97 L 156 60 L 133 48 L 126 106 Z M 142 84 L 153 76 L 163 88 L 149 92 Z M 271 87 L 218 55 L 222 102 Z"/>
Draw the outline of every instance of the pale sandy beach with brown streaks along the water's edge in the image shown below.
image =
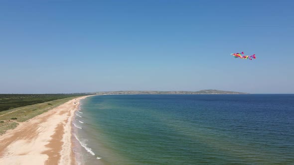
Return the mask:
<path fill-rule="evenodd" d="M 71 121 L 85 97 L 19 123 L 0 136 L 0 165 L 75 165 Z"/>

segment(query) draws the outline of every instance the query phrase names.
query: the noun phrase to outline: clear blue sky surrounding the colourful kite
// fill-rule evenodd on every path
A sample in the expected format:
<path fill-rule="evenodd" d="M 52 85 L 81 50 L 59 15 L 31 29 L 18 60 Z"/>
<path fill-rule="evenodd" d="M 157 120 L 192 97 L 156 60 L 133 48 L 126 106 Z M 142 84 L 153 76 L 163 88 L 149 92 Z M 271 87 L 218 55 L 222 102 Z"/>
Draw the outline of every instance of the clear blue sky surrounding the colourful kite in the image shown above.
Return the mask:
<path fill-rule="evenodd" d="M 0 0 L 0 93 L 294 93 L 294 0 Z M 244 51 L 256 60 L 235 59 Z"/>

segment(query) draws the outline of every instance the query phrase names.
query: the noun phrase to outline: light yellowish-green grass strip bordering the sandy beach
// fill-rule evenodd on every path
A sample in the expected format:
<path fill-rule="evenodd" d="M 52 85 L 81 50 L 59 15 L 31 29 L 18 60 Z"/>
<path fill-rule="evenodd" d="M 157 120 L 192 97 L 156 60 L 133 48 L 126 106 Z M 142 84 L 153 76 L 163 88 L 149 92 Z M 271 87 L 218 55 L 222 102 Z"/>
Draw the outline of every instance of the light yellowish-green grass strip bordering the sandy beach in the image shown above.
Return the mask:
<path fill-rule="evenodd" d="M 9 129 L 14 129 L 18 122 L 24 122 L 39 114 L 47 112 L 48 110 L 55 108 L 75 97 L 67 97 L 62 99 L 55 99 L 52 101 L 46 101 L 33 105 L 22 106 L 19 108 L 13 108 L 0 112 L 0 135 L 4 134 Z"/>

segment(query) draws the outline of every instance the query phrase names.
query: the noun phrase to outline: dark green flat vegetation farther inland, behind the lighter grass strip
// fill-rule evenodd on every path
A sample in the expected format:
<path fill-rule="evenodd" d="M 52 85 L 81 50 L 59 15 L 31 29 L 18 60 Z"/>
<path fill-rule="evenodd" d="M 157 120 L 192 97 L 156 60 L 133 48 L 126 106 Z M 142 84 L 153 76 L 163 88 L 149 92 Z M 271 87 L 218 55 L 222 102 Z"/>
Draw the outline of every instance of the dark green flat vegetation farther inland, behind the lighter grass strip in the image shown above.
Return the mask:
<path fill-rule="evenodd" d="M 0 112 L 26 105 L 81 95 L 86 94 L 0 94 Z"/>

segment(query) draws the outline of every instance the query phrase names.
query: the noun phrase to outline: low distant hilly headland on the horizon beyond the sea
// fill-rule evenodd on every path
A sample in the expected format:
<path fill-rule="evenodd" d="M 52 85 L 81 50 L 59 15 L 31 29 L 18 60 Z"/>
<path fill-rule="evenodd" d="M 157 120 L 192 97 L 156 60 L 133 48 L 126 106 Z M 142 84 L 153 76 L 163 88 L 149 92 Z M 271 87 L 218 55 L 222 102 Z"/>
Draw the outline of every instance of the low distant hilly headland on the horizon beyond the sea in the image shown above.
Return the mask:
<path fill-rule="evenodd" d="M 100 92 L 92 92 L 91 94 L 248 94 L 248 93 L 207 89 L 207 90 L 199 90 L 199 91 L 141 91 L 141 90 L 100 91 Z"/>

